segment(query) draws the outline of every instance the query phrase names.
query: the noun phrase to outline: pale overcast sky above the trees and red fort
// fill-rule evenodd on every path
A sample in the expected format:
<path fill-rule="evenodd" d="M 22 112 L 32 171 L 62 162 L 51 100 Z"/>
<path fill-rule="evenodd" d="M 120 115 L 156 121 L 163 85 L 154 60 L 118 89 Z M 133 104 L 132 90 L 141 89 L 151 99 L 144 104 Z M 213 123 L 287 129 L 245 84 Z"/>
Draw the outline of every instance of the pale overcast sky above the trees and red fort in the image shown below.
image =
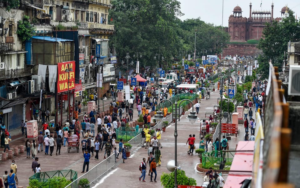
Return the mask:
<path fill-rule="evenodd" d="M 198 18 L 206 23 L 222 25 L 222 0 L 178 0 L 181 5 L 181 12 L 184 13 L 181 20 Z M 233 14 L 233 8 L 240 6 L 242 8 L 242 17 L 249 18 L 249 4 L 252 3 L 252 11 L 270 10 L 271 4 L 274 3 L 274 18 L 281 17 L 281 8 L 286 6 L 300 17 L 300 1 L 298 0 L 224 0 L 223 9 L 223 26 L 228 26 L 228 18 Z M 260 4 L 262 6 L 260 7 Z"/>

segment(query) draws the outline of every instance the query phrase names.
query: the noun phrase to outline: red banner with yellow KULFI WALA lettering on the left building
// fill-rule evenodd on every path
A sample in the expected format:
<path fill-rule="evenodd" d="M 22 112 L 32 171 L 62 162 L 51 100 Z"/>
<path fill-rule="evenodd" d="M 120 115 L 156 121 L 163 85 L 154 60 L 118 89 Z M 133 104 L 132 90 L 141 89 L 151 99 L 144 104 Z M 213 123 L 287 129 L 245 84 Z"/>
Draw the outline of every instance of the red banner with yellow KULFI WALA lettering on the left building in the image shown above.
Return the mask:
<path fill-rule="evenodd" d="M 72 69 L 66 72 L 66 69 Z M 68 79 L 69 77 L 69 79 Z M 75 89 L 75 61 L 58 63 L 57 93 Z"/>

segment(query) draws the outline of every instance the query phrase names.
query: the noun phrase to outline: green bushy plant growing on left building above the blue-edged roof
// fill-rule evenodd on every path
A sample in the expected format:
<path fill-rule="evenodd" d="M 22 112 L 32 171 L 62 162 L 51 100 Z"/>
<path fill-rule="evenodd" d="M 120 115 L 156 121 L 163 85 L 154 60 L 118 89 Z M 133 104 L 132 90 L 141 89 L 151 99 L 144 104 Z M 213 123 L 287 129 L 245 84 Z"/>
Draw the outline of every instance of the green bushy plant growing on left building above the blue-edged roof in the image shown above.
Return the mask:
<path fill-rule="evenodd" d="M 22 42 L 32 38 L 35 28 L 29 22 L 29 16 L 24 16 L 23 21 L 20 20 L 18 23 L 17 34 Z"/>

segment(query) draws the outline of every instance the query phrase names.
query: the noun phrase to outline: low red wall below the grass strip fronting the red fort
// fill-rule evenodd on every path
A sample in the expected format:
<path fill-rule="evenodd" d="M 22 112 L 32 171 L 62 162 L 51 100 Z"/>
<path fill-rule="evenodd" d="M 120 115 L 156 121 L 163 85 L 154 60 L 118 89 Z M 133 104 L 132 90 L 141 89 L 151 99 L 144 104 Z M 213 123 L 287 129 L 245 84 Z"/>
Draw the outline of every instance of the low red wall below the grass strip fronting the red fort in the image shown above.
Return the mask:
<path fill-rule="evenodd" d="M 261 52 L 256 46 L 256 44 L 227 44 L 227 48 L 223 48 L 223 57 L 226 55 L 255 55 Z"/>

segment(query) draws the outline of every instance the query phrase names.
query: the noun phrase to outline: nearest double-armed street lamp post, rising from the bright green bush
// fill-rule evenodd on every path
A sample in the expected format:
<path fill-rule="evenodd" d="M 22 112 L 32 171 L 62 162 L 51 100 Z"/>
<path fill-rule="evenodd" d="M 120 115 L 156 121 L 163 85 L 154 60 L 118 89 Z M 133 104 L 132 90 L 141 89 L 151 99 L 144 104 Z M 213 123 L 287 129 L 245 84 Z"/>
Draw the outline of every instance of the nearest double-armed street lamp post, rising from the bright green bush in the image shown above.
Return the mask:
<path fill-rule="evenodd" d="M 172 112 L 173 112 L 173 111 L 174 111 L 173 102 L 170 101 L 169 99 L 163 99 L 163 100 L 161 100 L 161 101 L 158 103 L 158 105 L 159 105 L 161 102 L 163 102 L 163 101 L 169 101 L 169 102 L 172 104 Z M 174 177 L 174 182 L 175 182 L 175 185 L 174 185 L 174 187 L 175 187 L 175 188 L 177 188 L 177 167 L 178 167 L 178 166 L 177 166 L 177 136 L 178 136 L 178 133 L 177 133 L 177 110 L 178 110 L 178 112 L 179 112 L 179 110 L 180 110 L 180 104 L 181 104 L 183 101 L 189 101 L 191 104 L 193 104 L 192 101 L 189 100 L 189 99 L 183 99 L 182 101 L 180 101 L 179 105 L 177 104 L 177 101 L 174 103 L 174 105 L 175 105 L 175 131 L 174 131 L 174 137 L 175 137 L 175 151 L 174 151 L 174 153 L 175 153 L 175 171 L 174 171 L 175 177 Z M 179 108 L 177 109 L 178 106 L 179 106 Z M 161 112 L 159 112 L 159 114 L 161 114 Z M 154 119 L 156 119 L 156 120 L 162 120 L 162 119 L 164 119 L 164 118 L 163 118 L 163 115 L 161 114 L 160 117 L 154 117 Z M 187 119 L 190 121 L 191 124 L 194 124 L 195 121 L 196 121 L 197 119 L 199 119 L 199 118 L 197 117 L 197 115 L 196 115 L 196 112 L 194 112 L 194 105 L 192 105 L 192 111 L 191 111 L 190 114 L 187 116 Z"/>

